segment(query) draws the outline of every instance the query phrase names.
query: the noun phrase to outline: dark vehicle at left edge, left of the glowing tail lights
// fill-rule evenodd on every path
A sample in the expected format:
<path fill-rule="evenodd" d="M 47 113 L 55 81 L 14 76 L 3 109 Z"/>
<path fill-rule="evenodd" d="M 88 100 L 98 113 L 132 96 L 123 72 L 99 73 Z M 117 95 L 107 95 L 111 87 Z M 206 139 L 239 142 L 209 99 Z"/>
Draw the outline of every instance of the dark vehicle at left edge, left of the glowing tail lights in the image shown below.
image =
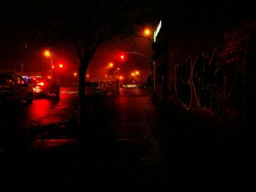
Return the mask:
<path fill-rule="evenodd" d="M 0 72 L 0 102 L 26 101 L 31 104 L 34 100 L 34 90 L 18 74 Z"/>

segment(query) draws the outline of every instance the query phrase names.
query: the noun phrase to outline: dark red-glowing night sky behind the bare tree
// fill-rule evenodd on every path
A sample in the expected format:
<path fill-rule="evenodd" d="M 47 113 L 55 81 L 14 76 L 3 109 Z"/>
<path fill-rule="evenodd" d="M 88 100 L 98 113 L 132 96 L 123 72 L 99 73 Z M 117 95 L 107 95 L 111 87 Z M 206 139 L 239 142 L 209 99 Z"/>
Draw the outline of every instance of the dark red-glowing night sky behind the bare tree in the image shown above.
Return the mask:
<path fill-rule="evenodd" d="M 24 64 L 25 71 L 48 70 L 50 61 L 42 55 L 42 51 L 45 48 L 39 47 L 39 44 L 37 44 L 41 31 L 24 25 L 28 16 L 29 18 L 34 16 L 24 15 L 24 10 L 26 10 L 26 7 L 23 1 L 10 0 L 0 2 L 0 70 L 15 69 L 19 71 L 21 64 Z M 143 35 L 143 28 L 144 26 L 140 26 L 140 35 Z M 31 31 L 31 29 L 33 30 Z M 152 27 L 151 30 L 153 32 L 154 28 Z M 109 62 L 118 64 L 118 55 L 121 52 L 152 55 L 151 42 L 148 39 L 113 39 L 113 42 L 108 43 L 108 46 L 99 47 L 89 66 L 89 73 L 94 76 L 105 76 L 107 72 L 106 66 Z M 75 69 L 78 69 L 75 66 L 77 63 L 76 56 L 68 48 L 56 47 L 56 49 L 52 50 L 52 53 L 53 63 L 64 61 L 67 66 L 70 66 L 69 70 L 75 71 Z M 119 62 L 119 67 L 126 73 L 132 70 L 140 70 L 146 73 L 147 62 L 147 58 L 135 54 L 127 54 L 126 60 L 122 64 Z"/>

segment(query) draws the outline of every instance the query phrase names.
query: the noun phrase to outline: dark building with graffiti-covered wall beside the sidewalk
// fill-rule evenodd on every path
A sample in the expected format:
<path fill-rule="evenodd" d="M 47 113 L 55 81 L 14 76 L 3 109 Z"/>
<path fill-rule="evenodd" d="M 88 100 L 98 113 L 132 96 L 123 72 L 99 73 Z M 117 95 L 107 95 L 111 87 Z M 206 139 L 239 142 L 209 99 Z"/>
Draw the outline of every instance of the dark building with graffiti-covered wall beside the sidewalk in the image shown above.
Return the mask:
<path fill-rule="evenodd" d="M 256 107 L 255 3 L 207 4 L 163 8 L 155 93 L 198 123 L 245 130 Z"/>

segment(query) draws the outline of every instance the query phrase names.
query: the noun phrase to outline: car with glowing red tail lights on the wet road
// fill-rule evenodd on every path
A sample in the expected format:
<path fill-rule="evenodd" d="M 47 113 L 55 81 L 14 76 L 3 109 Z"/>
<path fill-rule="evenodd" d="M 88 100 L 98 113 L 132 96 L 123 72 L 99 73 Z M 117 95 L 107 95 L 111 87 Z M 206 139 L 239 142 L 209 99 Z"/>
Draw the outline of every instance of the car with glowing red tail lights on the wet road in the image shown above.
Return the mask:
<path fill-rule="evenodd" d="M 53 80 L 42 77 L 31 77 L 27 80 L 27 83 L 34 89 L 36 96 L 50 96 L 53 93 L 59 97 L 60 87 Z"/>

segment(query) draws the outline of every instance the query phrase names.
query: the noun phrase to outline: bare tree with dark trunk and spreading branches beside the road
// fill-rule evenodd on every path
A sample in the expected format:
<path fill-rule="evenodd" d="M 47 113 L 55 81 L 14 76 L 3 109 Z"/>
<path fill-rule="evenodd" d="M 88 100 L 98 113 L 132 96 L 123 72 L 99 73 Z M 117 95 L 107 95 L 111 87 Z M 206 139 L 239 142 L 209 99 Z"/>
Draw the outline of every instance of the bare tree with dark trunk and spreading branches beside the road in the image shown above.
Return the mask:
<path fill-rule="evenodd" d="M 113 37 L 131 37 L 136 26 L 158 22 L 157 0 L 29 1 L 26 11 L 48 37 L 46 45 L 69 42 L 78 55 L 78 126 L 83 126 L 86 70 L 97 48 Z"/>

